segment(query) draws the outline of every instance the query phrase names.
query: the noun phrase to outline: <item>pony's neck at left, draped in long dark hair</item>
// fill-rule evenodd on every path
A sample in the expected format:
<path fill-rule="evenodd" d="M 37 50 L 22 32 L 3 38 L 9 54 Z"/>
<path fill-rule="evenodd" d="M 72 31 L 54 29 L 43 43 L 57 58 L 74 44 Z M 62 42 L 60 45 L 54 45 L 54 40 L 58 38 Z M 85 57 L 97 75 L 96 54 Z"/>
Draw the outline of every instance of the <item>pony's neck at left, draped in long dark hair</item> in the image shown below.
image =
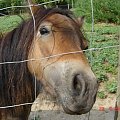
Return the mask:
<path fill-rule="evenodd" d="M 24 24 L 5 35 L 0 41 L 0 63 L 27 59 L 31 41 L 25 40 Z M 22 36 L 22 37 L 21 37 Z M 32 103 L 35 100 L 35 81 L 27 63 L 0 64 L 0 106 Z M 0 109 L 0 120 L 8 117 L 27 120 L 31 105 Z M 6 119 L 5 119 L 6 118 Z"/>

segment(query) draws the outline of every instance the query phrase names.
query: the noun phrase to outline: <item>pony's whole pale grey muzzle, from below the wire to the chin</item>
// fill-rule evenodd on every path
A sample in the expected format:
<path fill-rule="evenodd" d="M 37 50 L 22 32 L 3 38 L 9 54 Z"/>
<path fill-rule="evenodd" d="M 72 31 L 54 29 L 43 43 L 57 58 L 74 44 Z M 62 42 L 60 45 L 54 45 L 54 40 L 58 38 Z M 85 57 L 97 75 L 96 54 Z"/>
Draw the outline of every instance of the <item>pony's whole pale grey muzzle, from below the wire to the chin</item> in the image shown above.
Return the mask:
<path fill-rule="evenodd" d="M 53 64 L 44 72 L 66 113 L 80 115 L 91 110 L 98 89 L 91 69 L 74 62 L 64 62 Z"/>

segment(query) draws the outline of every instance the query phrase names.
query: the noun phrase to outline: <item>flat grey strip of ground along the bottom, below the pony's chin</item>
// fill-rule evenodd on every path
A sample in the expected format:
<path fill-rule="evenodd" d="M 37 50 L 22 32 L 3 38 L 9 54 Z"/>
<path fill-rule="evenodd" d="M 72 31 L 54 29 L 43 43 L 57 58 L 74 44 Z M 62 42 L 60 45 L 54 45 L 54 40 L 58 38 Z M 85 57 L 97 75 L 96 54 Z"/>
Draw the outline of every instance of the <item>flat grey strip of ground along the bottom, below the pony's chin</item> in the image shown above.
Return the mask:
<path fill-rule="evenodd" d="M 32 114 L 31 114 L 32 115 Z M 89 114 L 85 115 L 66 115 L 63 112 L 59 111 L 42 111 L 33 113 L 32 116 L 36 115 L 37 117 L 31 118 L 31 120 L 114 120 L 113 111 L 104 111 L 99 112 L 92 110 Z"/>

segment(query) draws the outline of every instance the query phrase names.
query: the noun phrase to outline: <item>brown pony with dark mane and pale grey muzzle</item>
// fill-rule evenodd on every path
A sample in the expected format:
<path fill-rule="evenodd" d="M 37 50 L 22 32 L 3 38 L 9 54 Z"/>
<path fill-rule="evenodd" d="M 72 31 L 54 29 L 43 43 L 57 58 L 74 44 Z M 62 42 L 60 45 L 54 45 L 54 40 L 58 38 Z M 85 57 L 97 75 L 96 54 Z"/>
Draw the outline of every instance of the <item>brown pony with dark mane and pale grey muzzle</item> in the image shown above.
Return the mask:
<path fill-rule="evenodd" d="M 34 102 L 41 87 L 59 98 L 66 113 L 87 113 L 98 85 L 82 52 L 87 47 L 80 30 L 83 18 L 56 8 L 37 10 L 34 17 L 35 31 L 31 18 L 0 40 L 0 63 L 36 59 L 0 64 L 0 120 L 27 120 L 31 104 L 3 108 Z M 81 52 L 63 54 L 75 51 Z"/>

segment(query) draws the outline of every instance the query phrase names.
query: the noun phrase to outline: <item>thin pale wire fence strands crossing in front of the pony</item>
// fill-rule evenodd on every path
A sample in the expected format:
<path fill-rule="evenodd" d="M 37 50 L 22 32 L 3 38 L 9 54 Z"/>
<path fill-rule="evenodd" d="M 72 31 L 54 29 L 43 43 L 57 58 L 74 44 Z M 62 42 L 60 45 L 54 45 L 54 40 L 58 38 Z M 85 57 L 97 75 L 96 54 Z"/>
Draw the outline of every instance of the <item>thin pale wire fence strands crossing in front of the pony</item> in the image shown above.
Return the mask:
<path fill-rule="evenodd" d="M 49 1 L 49 2 L 44 2 L 44 3 L 41 3 L 41 4 L 31 4 L 30 1 L 28 0 L 28 5 L 23 5 L 23 6 L 10 6 L 10 7 L 5 7 L 5 8 L 1 8 L 0 11 L 3 11 L 3 10 L 6 10 L 6 9 L 11 9 L 11 8 L 29 8 L 30 9 L 30 12 L 31 12 L 31 15 L 32 15 L 32 18 L 33 18 L 33 22 L 34 22 L 34 32 L 35 32 L 35 18 L 34 18 L 34 14 L 31 10 L 31 7 L 32 6 L 41 6 L 41 5 L 46 5 L 46 4 L 50 4 L 50 3 L 55 3 L 55 2 L 58 2 L 60 0 L 53 0 L 53 1 Z M 51 56 L 47 56 L 47 57 L 43 57 L 43 58 L 40 58 L 40 59 L 27 59 L 27 60 L 22 60 L 22 61 L 12 61 L 12 62 L 2 62 L 0 63 L 0 65 L 4 65 L 4 64 L 20 64 L 20 63 L 25 63 L 25 62 L 29 62 L 29 61 L 40 61 L 40 60 L 44 60 L 44 59 L 49 59 L 49 58 L 54 58 L 54 57 L 59 57 L 59 56 L 62 56 L 62 55 L 69 55 L 69 54 L 78 54 L 78 53 L 81 53 L 81 52 L 89 52 L 90 51 L 90 62 L 91 64 L 93 65 L 93 52 L 96 52 L 96 51 L 100 51 L 100 50 L 104 50 L 104 49 L 112 49 L 112 48 L 119 48 L 119 45 L 109 45 L 109 46 L 105 46 L 105 47 L 92 47 L 92 42 L 93 42 L 93 37 L 94 37 L 94 5 L 93 5 L 93 0 L 90 0 L 91 1 L 91 16 L 92 16 L 92 28 L 91 28 L 91 41 L 90 41 L 90 48 L 87 49 L 87 50 L 82 50 L 82 51 L 73 51 L 73 52 L 67 52 L 67 53 L 60 53 L 60 54 L 56 54 L 56 55 L 51 55 Z M 73 4 L 72 4 L 73 6 Z M 69 8 L 69 7 L 68 7 Z M 5 15 L 5 14 L 2 14 L 0 13 L 0 15 Z M 34 37 L 35 37 L 35 33 L 34 33 Z M 35 76 L 35 70 L 33 68 L 33 71 L 34 71 L 34 76 Z M 35 76 L 35 98 L 37 98 L 37 95 L 36 95 L 36 76 Z M 34 102 L 35 104 L 38 104 L 38 102 Z M 13 107 L 18 107 L 18 106 L 24 106 L 24 105 L 32 105 L 33 103 L 23 103 L 23 104 L 18 104 L 18 105 L 11 105 L 11 106 L 0 106 L 0 109 L 7 109 L 7 108 L 13 108 Z M 87 119 L 90 120 L 90 113 L 88 113 L 87 115 Z M 34 116 L 34 119 L 35 116 Z M 85 118 L 86 119 L 86 118 Z"/>

